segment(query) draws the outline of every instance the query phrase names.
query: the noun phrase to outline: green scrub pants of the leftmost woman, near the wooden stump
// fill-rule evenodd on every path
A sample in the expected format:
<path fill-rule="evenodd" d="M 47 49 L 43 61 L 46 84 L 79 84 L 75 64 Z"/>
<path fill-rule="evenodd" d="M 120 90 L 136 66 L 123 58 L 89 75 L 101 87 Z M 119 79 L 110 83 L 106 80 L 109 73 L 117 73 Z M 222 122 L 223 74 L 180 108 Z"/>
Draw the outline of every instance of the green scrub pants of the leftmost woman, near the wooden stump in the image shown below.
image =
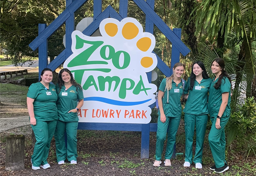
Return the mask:
<path fill-rule="evenodd" d="M 47 164 L 51 140 L 55 131 L 57 120 L 36 121 L 36 125 L 31 125 L 35 133 L 36 144 L 33 155 L 31 156 L 33 166 L 39 167 Z"/>

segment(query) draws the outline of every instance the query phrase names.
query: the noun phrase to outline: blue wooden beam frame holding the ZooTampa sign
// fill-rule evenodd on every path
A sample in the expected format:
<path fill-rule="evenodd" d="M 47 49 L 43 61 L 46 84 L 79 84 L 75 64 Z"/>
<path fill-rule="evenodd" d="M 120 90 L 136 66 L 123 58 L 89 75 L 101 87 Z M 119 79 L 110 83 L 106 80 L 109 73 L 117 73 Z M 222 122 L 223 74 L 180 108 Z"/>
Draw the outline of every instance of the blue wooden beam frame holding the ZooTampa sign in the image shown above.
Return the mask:
<path fill-rule="evenodd" d="M 154 0 L 133 0 L 136 5 L 146 15 L 146 27 L 145 31 L 153 34 L 154 24 L 158 29 L 169 39 L 172 43 L 171 51 L 171 67 L 180 61 L 180 53 L 185 56 L 190 52 L 188 47 L 181 41 L 181 29 L 171 30 L 162 19 L 154 12 Z M 50 68 L 55 70 L 72 54 L 71 50 L 71 34 L 75 29 L 74 26 L 74 13 L 87 0 L 66 0 L 66 9 L 61 13 L 48 27 L 46 24 L 38 25 L 38 36 L 29 44 L 32 50 L 38 48 L 39 53 L 39 73 L 44 68 Z M 102 12 L 102 0 L 94 0 L 94 16 L 93 22 L 83 31 L 83 34 L 90 36 L 95 32 L 101 21 L 106 18 L 115 18 L 121 21 L 127 17 L 128 12 L 128 0 L 120 0 L 119 2 L 119 14 L 111 7 L 108 6 Z M 49 65 L 47 64 L 48 47 L 47 40 L 51 37 L 61 25 L 66 24 L 66 49 L 64 49 Z M 170 69 L 160 57 L 156 55 L 158 59 L 157 67 L 165 76 L 172 74 Z M 147 73 L 148 81 L 151 82 L 151 72 Z M 40 79 L 40 75 L 39 75 Z M 150 106 L 155 107 L 155 103 Z M 149 157 L 149 132 L 156 132 L 157 124 L 119 124 L 119 123 L 79 123 L 78 129 L 81 130 L 115 130 L 115 131 L 141 131 L 141 158 Z M 175 156 L 175 152 L 174 155 Z"/>

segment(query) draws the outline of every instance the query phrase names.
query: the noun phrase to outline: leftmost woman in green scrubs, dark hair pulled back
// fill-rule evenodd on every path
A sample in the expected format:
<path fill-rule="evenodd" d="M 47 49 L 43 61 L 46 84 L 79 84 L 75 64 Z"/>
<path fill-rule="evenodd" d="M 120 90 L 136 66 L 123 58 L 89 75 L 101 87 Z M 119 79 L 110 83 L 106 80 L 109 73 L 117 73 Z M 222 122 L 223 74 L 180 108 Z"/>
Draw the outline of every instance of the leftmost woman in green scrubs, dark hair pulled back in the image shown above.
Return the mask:
<path fill-rule="evenodd" d="M 30 124 L 36 137 L 31 156 L 32 169 L 50 168 L 47 162 L 51 140 L 57 123 L 57 93 L 52 81 L 52 70 L 43 69 L 41 80 L 29 86 L 27 94 Z"/>

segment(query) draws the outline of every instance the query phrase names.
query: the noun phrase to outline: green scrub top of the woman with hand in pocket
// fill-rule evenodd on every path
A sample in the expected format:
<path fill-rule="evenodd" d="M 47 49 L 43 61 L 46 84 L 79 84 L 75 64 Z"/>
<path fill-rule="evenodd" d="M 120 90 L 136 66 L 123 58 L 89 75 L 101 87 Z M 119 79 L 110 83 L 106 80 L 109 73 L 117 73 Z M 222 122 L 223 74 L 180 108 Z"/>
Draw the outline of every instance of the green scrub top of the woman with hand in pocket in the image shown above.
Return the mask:
<path fill-rule="evenodd" d="M 70 112 L 71 109 L 75 109 L 78 100 L 83 100 L 83 90 L 72 85 L 65 91 L 65 86 L 62 86 L 59 92 L 59 85 L 56 85 L 56 90 L 58 94 L 57 109 L 59 120 L 63 122 L 78 122 L 79 118 L 77 112 Z M 67 95 L 65 96 L 65 93 Z"/>

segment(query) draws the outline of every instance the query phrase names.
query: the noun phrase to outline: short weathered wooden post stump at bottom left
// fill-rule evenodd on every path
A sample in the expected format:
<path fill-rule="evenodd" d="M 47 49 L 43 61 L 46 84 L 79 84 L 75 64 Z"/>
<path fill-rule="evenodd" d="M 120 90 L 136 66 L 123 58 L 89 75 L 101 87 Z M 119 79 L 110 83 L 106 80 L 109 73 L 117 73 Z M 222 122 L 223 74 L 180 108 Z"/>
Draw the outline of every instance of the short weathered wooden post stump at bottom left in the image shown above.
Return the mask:
<path fill-rule="evenodd" d="M 9 135 L 6 138 L 5 170 L 24 169 L 24 135 Z"/>

